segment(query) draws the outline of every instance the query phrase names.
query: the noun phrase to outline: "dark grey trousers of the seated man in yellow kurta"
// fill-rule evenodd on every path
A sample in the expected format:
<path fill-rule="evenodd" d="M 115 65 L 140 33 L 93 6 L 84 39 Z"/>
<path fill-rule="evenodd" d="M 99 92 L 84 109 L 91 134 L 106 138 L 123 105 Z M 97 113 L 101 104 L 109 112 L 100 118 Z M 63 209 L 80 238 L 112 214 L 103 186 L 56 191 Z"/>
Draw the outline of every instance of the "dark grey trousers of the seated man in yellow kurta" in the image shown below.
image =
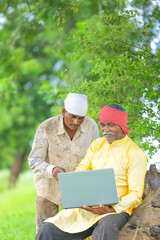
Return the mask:
<path fill-rule="evenodd" d="M 35 240 L 80 240 L 92 235 L 92 240 L 117 240 L 119 230 L 127 223 L 130 216 L 127 213 L 113 214 L 101 218 L 91 228 L 84 232 L 67 233 L 58 229 L 52 223 L 45 223 L 39 229 Z"/>

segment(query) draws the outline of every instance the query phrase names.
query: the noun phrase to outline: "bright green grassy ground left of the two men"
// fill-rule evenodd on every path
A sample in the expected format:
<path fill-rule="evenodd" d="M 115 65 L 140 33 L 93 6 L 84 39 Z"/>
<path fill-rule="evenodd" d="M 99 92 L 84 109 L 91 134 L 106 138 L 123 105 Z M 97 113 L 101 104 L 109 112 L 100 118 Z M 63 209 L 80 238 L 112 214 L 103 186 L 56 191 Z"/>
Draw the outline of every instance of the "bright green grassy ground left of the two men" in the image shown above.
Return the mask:
<path fill-rule="evenodd" d="M 33 174 L 20 175 L 14 188 L 7 187 L 9 172 L 0 171 L 0 239 L 35 239 L 36 191 Z"/>

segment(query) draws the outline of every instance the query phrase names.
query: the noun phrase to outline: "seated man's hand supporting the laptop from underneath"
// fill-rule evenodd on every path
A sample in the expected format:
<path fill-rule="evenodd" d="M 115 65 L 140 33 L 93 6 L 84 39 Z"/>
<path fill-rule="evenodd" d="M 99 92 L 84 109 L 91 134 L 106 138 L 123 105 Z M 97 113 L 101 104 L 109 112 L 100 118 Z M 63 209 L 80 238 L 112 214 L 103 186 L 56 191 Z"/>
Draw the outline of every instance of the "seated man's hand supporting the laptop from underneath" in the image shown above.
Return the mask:
<path fill-rule="evenodd" d="M 99 207 L 88 207 L 88 206 L 83 206 L 83 209 L 85 209 L 86 211 L 95 213 L 95 214 L 105 214 L 105 213 L 111 213 L 111 212 L 115 212 L 114 208 L 108 205 L 103 205 L 100 204 Z"/>

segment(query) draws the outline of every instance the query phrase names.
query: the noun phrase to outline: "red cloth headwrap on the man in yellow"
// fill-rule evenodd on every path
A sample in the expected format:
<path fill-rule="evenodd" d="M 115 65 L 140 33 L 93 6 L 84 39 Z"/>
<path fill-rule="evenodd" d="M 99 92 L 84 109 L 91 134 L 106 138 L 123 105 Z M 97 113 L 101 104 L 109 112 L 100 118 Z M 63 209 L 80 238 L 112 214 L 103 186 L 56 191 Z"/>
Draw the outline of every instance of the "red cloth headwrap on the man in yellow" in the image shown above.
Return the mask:
<path fill-rule="evenodd" d="M 117 124 L 125 134 L 129 134 L 130 131 L 127 130 L 127 115 L 126 112 L 121 112 L 117 109 L 105 106 L 102 107 L 99 113 L 99 122 L 111 122 Z"/>

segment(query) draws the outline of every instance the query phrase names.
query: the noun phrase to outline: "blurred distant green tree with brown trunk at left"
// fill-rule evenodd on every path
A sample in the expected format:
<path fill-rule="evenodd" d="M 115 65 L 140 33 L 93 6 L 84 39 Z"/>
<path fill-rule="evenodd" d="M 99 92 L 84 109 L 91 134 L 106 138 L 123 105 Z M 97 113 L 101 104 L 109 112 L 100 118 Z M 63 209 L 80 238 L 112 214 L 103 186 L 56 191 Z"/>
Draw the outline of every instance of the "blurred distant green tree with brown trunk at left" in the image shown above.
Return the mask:
<path fill-rule="evenodd" d="M 50 117 L 55 104 L 49 99 L 45 102 L 39 92 L 43 83 L 54 76 L 52 69 L 57 59 L 49 52 L 53 43 L 51 30 L 46 29 L 48 35 L 44 36 L 43 25 L 30 22 L 24 5 L 18 1 L 13 5 L 4 8 L 9 13 L 4 11 L 7 21 L 1 30 L 0 110 L 4 115 L 0 158 L 1 167 L 11 167 L 11 182 L 15 183 L 37 125 Z M 53 91 L 52 101 L 56 95 Z"/>

